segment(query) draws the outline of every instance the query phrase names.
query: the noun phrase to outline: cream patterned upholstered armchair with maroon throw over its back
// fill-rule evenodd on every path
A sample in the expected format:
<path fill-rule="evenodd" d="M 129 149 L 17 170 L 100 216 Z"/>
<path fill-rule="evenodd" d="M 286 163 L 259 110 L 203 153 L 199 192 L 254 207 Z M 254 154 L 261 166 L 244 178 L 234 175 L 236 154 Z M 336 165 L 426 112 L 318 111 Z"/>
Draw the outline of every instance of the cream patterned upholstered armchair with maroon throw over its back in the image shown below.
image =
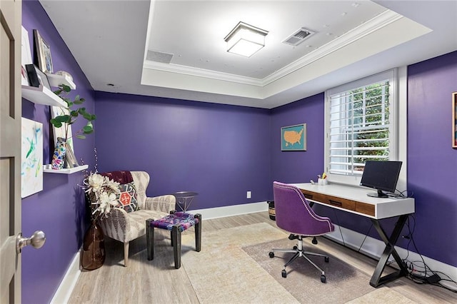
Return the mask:
<path fill-rule="evenodd" d="M 121 183 L 121 186 L 127 185 L 125 182 L 133 179 L 134 188 L 136 188 L 138 210 L 136 208 L 114 208 L 107 217 L 102 217 L 99 221 L 104 235 L 124 243 L 124 266 L 127 267 L 129 265 L 130 241 L 146 234 L 145 223 L 147 219 L 159 219 L 175 210 L 176 198 L 171 195 L 147 197 L 146 188 L 150 178 L 149 174 L 144 171 L 114 171 L 101 173 L 101 175 L 109 176 L 114 181 Z M 130 194 L 134 190 L 127 189 Z M 130 196 L 130 194 L 126 194 L 126 196 Z"/>

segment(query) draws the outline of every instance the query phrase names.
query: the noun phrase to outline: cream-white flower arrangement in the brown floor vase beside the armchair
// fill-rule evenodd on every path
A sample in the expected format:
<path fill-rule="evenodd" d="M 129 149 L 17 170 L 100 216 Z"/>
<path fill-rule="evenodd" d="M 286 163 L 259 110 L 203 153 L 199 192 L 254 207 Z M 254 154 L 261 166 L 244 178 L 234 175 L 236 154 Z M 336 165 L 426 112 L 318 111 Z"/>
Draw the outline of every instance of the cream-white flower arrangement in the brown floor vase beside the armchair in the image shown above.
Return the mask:
<path fill-rule="evenodd" d="M 99 215 L 108 216 L 111 209 L 119 203 L 116 196 L 120 193 L 119 183 L 112 181 L 107 176 L 92 172 L 83 183 L 82 187 L 86 189 L 86 196 L 91 204 L 92 220 L 98 218 Z"/>

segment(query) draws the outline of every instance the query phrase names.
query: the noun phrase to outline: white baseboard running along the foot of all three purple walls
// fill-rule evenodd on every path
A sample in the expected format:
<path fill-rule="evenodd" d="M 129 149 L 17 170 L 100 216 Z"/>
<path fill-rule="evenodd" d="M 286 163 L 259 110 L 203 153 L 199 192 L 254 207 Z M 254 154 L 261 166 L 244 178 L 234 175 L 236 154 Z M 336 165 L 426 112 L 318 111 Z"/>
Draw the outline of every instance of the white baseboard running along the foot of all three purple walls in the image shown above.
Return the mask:
<path fill-rule="evenodd" d="M 243 205 L 234 205 L 234 206 L 225 206 L 225 207 L 218 207 L 218 208 L 208 208 L 208 209 L 197 209 L 189 211 L 191 213 L 200 213 L 201 217 L 204 220 L 210 220 L 214 218 L 225 218 L 227 216 L 239 216 L 241 214 L 248 214 L 248 213 L 256 213 L 256 212 L 263 212 L 268 211 L 268 203 L 266 201 L 259 202 L 259 203 L 248 203 Z M 341 234 L 343 234 L 344 244 L 348 248 L 352 248 L 354 250 L 360 249 L 360 252 L 370 256 L 371 258 L 375 258 L 378 260 L 383 253 L 385 248 L 385 244 L 383 241 L 378 240 L 376 238 L 371 238 L 365 235 L 358 233 L 356 231 L 344 228 L 335 225 L 335 231 L 331 234 L 326 235 L 327 238 L 336 241 L 337 243 L 343 244 L 343 239 L 341 238 Z M 365 241 L 363 239 L 365 238 Z M 408 260 L 422 260 L 421 256 L 417 253 L 412 251 L 407 251 L 403 248 L 397 247 L 396 250 L 398 255 L 401 258 L 406 258 L 408 255 Z M 61 281 L 59 288 L 57 289 L 54 298 L 51 300 L 51 304 L 61 304 L 67 303 L 71 292 L 73 291 L 76 282 L 78 281 L 79 274 L 81 270 L 79 270 L 79 259 L 80 259 L 80 250 L 76 253 L 73 261 L 71 262 L 68 270 L 66 271 L 66 275 L 64 279 Z M 452 280 L 457 280 L 457 268 L 451 265 L 442 263 L 438 260 L 433 260 L 431 258 L 427 258 L 423 256 L 423 260 L 426 262 L 428 267 L 431 268 L 433 271 L 441 271 L 442 273 L 446 273 Z M 441 275 L 443 278 L 443 275 Z M 455 288 L 453 285 L 449 285 L 449 288 Z"/>

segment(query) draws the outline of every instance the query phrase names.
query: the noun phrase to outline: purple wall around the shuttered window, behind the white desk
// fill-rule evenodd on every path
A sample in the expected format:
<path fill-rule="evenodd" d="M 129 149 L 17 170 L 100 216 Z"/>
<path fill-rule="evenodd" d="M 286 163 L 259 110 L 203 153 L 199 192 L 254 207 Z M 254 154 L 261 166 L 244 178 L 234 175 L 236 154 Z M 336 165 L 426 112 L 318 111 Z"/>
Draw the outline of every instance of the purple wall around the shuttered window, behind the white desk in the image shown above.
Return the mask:
<path fill-rule="evenodd" d="M 451 93 L 457 91 L 456 79 L 457 51 L 408 67 L 408 190 L 416 199 L 413 237 L 419 253 L 453 266 L 457 266 L 457 150 L 451 148 Z M 323 102 L 319 94 L 271 112 L 273 180 L 306 182 L 323 171 Z M 279 128 L 303 122 L 308 126 L 308 151 L 281 152 Z M 336 224 L 378 238 L 368 218 L 316 207 Z M 388 227 L 394 221 L 381 223 Z M 403 235 L 407 233 L 405 228 Z M 406 240 L 398 245 L 408 248 Z M 409 249 L 416 251 L 412 245 Z"/>

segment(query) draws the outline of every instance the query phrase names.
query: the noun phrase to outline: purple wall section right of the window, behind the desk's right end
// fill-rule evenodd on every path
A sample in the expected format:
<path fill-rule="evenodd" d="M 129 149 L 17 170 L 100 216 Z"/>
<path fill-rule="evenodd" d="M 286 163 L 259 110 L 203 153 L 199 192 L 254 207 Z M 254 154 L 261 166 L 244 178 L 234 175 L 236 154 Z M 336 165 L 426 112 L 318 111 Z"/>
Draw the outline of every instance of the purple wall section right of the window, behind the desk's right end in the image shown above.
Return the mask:
<path fill-rule="evenodd" d="M 457 266 L 457 149 L 451 93 L 457 51 L 408 67 L 408 189 L 416 198 L 419 251 Z"/>

